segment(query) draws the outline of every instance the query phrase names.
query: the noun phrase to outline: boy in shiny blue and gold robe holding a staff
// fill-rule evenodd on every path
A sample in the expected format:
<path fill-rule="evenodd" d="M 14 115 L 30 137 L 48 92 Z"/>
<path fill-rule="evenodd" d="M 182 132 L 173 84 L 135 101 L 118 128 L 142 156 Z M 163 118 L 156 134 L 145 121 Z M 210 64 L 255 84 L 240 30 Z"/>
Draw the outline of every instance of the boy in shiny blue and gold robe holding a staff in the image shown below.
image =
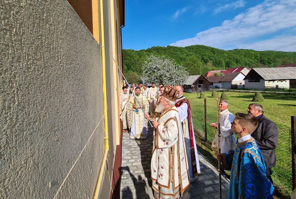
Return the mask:
<path fill-rule="evenodd" d="M 231 131 L 237 133 L 237 148 L 217 154 L 226 170 L 231 169 L 228 198 L 273 198 L 274 186 L 261 151 L 251 134 L 258 121 L 251 114 L 237 113 L 231 123 Z"/>

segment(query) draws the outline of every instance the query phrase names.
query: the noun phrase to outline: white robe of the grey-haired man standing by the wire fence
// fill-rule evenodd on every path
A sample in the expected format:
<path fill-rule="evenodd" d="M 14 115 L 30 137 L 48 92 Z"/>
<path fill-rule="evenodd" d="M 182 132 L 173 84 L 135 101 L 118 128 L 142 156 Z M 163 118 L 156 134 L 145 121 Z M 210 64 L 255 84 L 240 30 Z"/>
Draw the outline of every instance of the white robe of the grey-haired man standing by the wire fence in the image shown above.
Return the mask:
<path fill-rule="evenodd" d="M 228 153 L 230 150 L 235 150 L 237 147 L 235 136 L 231 131 L 230 123 L 233 122 L 233 120 L 234 115 L 231 114 L 228 109 L 220 112 L 221 153 Z M 218 124 L 218 122 L 216 124 Z M 216 129 L 212 148 L 218 151 L 218 129 Z"/>

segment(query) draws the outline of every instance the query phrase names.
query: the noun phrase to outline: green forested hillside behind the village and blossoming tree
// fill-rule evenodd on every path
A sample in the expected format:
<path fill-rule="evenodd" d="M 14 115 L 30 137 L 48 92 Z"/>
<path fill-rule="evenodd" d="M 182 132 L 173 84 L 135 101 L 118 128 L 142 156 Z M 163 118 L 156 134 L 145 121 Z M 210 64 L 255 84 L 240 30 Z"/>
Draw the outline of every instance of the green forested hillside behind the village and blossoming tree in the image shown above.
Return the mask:
<path fill-rule="evenodd" d="M 204 45 L 187 47 L 152 47 L 146 50 L 123 50 L 123 70 L 135 82 L 142 72 L 142 63 L 149 54 L 164 55 L 173 58 L 176 63 L 184 65 L 189 75 L 210 70 L 227 69 L 236 66 L 275 67 L 277 65 L 296 63 L 296 52 L 255 51 L 245 49 L 220 50 Z"/>

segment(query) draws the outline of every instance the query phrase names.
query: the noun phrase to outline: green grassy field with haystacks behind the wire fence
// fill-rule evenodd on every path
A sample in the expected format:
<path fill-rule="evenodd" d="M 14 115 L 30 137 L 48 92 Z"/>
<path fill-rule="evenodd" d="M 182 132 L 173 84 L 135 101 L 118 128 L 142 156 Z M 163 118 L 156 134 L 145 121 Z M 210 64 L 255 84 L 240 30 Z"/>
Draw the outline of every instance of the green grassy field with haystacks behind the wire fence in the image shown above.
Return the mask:
<path fill-rule="evenodd" d="M 204 99 L 197 98 L 197 93 L 184 93 L 191 103 L 192 120 L 195 132 L 204 147 L 210 148 L 213 141 L 214 129 L 210 123 L 217 121 L 217 102 L 211 98 L 212 92 L 206 92 L 207 97 L 207 140 L 205 140 L 205 112 Z M 219 96 L 221 92 L 218 93 Z M 229 111 L 247 113 L 247 107 L 252 103 L 254 93 L 227 92 L 229 96 Z M 285 94 L 262 94 L 264 102 L 260 102 L 264 115 L 274 121 L 279 128 L 279 143 L 276 148 L 276 167 L 272 178 L 279 198 L 288 197 L 292 192 L 292 164 L 291 164 L 291 116 L 296 115 L 296 96 Z M 215 156 L 214 153 L 211 153 Z"/>

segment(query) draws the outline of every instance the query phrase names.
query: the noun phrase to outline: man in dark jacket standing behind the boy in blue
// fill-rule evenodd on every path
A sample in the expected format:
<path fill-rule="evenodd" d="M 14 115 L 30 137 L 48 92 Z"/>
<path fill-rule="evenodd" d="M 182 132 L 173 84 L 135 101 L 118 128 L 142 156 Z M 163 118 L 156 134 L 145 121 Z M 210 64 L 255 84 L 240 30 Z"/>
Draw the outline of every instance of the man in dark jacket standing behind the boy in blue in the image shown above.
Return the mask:
<path fill-rule="evenodd" d="M 275 149 L 279 139 L 279 131 L 276 124 L 263 115 L 263 107 L 260 104 L 251 103 L 247 111 L 249 114 L 255 116 L 259 123 L 251 136 L 257 141 L 268 173 L 271 175 L 271 168 L 276 164 Z M 272 182 L 271 177 L 270 180 Z"/>

